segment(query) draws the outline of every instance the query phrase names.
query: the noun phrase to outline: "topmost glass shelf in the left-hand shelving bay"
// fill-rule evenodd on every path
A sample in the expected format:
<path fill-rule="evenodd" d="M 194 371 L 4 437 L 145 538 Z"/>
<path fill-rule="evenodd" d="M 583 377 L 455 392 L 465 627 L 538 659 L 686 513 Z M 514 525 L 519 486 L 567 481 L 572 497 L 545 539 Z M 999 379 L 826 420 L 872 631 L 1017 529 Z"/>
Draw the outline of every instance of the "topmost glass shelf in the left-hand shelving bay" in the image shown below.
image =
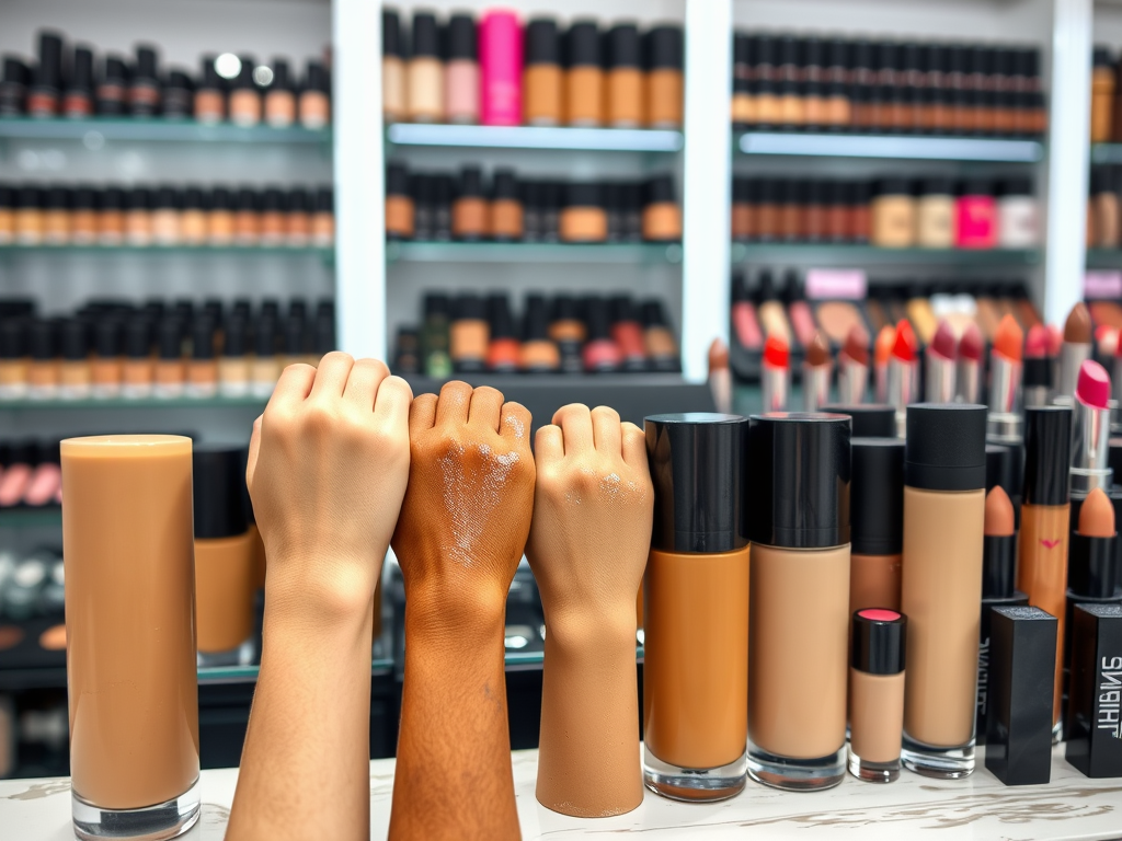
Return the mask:
<path fill-rule="evenodd" d="M 92 117 L 83 120 L 30 117 L 0 118 L 0 138 L 27 140 L 82 140 L 91 148 L 103 140 L 324 144 L 331 145 L 331 129 L 301 126 L 276 129 L 270 126 L 245 128 L 232 123 L 205 126 L 194 120 L 145 120 Z"/>

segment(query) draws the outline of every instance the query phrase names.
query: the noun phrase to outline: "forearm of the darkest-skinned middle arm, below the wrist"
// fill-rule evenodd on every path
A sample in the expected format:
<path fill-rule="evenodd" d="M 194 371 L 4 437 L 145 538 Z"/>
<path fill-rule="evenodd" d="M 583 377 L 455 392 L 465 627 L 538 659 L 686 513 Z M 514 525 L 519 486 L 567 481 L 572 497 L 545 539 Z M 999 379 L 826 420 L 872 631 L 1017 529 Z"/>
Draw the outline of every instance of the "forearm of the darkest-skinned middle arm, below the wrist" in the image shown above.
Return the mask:
<path fill-rule="evenodd" d="M 389 838 L 517 839 L 502 606 L 471 621 L 436 617 L 406 598 Z"/>

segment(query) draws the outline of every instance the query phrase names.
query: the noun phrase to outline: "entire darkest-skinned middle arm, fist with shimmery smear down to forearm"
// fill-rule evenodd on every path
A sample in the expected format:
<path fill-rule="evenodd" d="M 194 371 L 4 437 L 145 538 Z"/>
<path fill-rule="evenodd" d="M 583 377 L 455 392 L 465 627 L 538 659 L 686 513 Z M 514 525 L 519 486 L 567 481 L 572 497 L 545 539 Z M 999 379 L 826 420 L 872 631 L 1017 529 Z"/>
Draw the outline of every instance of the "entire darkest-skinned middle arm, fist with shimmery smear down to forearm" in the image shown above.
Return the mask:
<path fill-rule="evenodd" d="M 519 838 L 503 639 L 534 503 L 530 419 L 466 382 L 410 412 L 393 539 L 405 583 L 393 841 Z"/>

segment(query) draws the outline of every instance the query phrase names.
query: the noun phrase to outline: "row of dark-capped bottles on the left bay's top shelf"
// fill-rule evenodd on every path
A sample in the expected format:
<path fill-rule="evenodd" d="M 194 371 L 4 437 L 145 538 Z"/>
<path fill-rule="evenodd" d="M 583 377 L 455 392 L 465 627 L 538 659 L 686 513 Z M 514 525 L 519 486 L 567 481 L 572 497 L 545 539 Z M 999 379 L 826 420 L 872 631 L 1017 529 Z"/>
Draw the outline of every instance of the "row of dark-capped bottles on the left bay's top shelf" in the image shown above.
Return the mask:
<path fill-rule="evenodd" d="M 92 47 L 67 47 L 53 31 L 39 33 L 37 59 L 29 66 L 19 56 L 3 56 L 0 118 L 193 118 L 245 128 L 263 121 L 286 128 L 298 121 L 307 129 L 331 121 L 331 77 L 319 61 L 307 62 L 301 83 L 284 58 L 257 64 L 247 55 L 205 55 L 195 78 L 182 68 L 165 73 L 158 48 L 144 44 L 135 61 L 107 54 L 95 71 Z"/>

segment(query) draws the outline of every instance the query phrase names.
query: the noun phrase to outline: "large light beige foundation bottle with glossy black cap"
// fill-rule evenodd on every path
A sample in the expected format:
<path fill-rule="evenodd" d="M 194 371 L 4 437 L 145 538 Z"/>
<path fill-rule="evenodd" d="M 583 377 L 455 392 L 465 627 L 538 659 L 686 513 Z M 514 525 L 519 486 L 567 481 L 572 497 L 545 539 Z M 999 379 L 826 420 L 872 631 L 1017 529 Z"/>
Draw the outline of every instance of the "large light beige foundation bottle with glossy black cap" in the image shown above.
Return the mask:
<path fill-rule="evenodd" d="M 850 420 L 775 412 L 748 429 L 748 774 L 775 788 L 846 773 Z"/>

